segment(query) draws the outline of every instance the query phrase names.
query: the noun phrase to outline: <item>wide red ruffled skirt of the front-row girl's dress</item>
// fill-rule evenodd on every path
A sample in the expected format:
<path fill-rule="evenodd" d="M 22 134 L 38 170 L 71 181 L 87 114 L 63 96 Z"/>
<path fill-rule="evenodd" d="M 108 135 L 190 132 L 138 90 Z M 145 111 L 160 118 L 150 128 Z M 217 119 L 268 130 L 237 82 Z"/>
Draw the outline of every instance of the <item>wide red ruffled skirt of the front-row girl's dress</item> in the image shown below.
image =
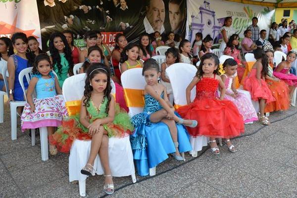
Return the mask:
<path fill-rule="evenodd" d="M 193 137 L 233 138 L 245 131 L 243 116 L 229 100 L 195 100 L 177 112 L 183 118 L 198 121 L 197 127 L 187 127 Z"/>

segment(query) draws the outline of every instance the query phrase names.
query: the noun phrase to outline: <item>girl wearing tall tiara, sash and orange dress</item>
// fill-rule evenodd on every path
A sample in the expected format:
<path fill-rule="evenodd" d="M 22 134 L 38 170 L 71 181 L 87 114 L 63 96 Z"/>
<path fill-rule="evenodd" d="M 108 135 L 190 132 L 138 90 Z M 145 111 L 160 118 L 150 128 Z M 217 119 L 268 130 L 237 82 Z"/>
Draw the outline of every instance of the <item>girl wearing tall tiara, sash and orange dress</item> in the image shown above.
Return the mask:
<path fill-rule="evenodd" d="M 270 102 L 266 104 L 264 112 L 272 112 L 272 111 L 279 111 L 279 110 L 287 110 L 290 107 L 290 92 L 288 85 L 276 78 L 273 75 L 273 48 L 270 43 L 267 43 L 263 47 L 266 55 L 268 56 L 269 66 L 268 66 L 268 73 L 265 76 L 265 81 L 271 90 L 273 97 L 275 98 L 274 102 Z"/>

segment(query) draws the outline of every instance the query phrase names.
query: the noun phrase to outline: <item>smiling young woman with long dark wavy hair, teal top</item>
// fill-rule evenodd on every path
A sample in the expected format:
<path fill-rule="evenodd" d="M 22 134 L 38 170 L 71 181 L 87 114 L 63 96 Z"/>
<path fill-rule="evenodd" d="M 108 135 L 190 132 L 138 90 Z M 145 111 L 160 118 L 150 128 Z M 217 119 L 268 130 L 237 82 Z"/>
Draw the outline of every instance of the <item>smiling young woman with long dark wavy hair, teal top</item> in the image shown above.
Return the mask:
<path fill-rule="evenodd" d="M 59 85 L 62 87 L 64 80 L 73 75 L 71 49 L 62 33 L 55 32 L 50 35 L 49 52 L 53 70 L 58 75 Z"/>

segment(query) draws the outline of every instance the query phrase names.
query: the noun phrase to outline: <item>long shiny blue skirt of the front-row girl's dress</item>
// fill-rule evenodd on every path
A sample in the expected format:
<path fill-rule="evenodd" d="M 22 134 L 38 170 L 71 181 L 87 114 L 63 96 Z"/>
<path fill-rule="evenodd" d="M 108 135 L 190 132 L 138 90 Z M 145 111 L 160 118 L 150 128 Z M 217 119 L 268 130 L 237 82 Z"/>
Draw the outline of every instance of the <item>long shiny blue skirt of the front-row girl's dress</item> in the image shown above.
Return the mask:
<path fill-rule="evenodd" d="M 140 176 L 149 174 L 149 168 L 157 166 L 175 152 L 169 128 L 162 122 L 151 123 L 147 112 L 132 117 L 135 133 L 130 136 L 137 172 Z M 192 150 L 189 134 L 183 125 L 176 124 L 179 151 Z"/>

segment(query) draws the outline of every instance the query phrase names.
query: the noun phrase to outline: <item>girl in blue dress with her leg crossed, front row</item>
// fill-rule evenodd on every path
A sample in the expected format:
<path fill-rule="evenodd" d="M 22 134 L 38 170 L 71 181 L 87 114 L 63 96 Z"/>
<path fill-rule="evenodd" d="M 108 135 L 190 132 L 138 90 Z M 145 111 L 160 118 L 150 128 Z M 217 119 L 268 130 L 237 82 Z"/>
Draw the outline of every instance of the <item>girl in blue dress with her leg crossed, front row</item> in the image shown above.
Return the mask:
<path fill-rule="evenodd" d="M 148 168 L 168 158 L 173 153 L 176 160 L 184 158 L 180 152 L 191 150 L 185 127 L 197 126 L 197 121 L 184 120 L 177 116 L 170 104 L 166 88 L 158 83 L 159 65 L 154 59 L 144 63 L 143 76 L 147 82 L 144 90 L 144 112 L 132 117 L 135 133 L 131 137 L 132 150 L 138 173 L 148 175 Z"/>

